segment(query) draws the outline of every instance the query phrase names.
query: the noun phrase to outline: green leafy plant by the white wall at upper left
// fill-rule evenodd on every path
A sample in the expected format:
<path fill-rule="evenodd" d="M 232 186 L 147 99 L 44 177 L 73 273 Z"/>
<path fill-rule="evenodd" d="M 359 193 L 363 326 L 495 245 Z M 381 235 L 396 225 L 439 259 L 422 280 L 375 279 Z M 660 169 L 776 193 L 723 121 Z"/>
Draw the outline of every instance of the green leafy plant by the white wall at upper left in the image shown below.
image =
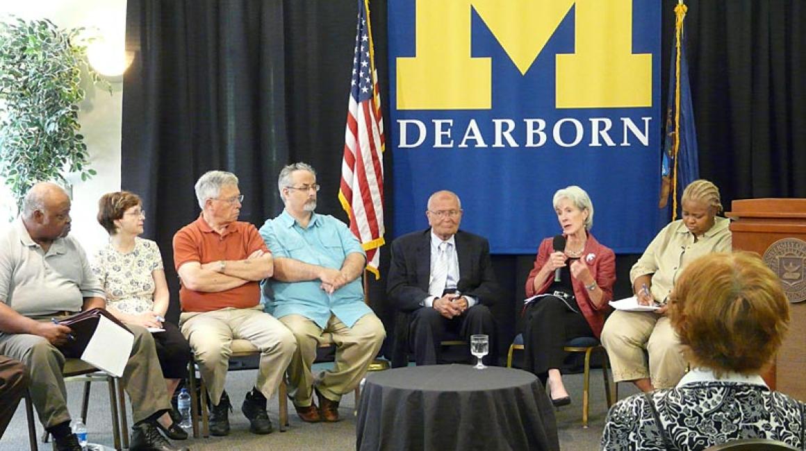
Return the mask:
<path fill-rule="evenodd" d="M 0 176 L 18 204 L 36 182 L 64 181 L 65 171 L 81 180 L 97 174 L 78 133 L 81 69 L 99 80 L 82 30 L 48 19 L 0 23 Z"/>

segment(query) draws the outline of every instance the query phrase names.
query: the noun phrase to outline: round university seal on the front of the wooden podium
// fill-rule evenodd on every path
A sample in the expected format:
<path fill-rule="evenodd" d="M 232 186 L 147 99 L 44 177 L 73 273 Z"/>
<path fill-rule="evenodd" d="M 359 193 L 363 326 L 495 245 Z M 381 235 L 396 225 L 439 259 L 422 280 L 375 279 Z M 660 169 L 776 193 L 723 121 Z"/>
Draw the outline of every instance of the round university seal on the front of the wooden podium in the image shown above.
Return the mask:
<path fill-rule="evenodd" d="M 806 242 L 783 238 L 764 251 L 764 263 L 781 279 L 789 302 L 806 300 Z"/>

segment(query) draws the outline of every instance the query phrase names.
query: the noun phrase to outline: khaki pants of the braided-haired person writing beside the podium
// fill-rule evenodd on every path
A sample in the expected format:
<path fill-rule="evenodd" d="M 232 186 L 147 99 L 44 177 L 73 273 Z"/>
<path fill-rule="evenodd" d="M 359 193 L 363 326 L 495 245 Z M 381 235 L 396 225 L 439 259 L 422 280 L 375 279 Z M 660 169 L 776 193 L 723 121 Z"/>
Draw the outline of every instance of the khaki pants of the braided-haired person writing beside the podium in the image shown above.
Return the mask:
<path fill-rule="evenodd" d="M 687 362 L 669 318 L 654 312 L 613 312 L 605 322 L 601 342 L 615 382 L 650 378 L 655 388 L 671 388 L 686 372 Z"/>

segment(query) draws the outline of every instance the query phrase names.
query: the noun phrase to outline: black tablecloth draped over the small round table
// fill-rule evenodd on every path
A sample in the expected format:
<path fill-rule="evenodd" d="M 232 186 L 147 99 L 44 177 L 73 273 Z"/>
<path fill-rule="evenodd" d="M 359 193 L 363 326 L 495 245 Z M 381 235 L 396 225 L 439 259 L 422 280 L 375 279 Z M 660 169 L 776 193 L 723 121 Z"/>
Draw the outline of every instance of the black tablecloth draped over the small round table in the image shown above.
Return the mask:
<path fill-rule="evenodd" d="M 356 449 L 559 449 L 551 403 L 534 374 L 467 365 L 368 374 Z"/>

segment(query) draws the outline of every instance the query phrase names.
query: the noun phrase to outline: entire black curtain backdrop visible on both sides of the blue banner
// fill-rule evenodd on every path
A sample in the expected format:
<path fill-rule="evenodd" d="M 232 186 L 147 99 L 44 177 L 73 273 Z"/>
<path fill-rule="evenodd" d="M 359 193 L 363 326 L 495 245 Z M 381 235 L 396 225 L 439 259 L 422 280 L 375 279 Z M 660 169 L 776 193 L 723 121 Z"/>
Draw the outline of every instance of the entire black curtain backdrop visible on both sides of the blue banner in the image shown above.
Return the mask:
<path fill-rule="evenodd" d="M 666 110 L 676 0 L 663 0 L 662 108 Z M 700 176 L 730 201 L 806 197 L 806 12 L 786 0 L 689 0 L 689 76 L 700 145 Z M 318 170 L 319 213 L 343 221 L 337 199 L 355 39 L 357 2 L 316 0 L 130 0 L 124 77 L 122 184 L 139 193 L 146 236 L 160 245 L 178 315 L 172 236 L 193 221 L 198 176 L 235 172 L 246 196 L 243 221 L 280 213 L 280 168 L 305 161 Z M 388 61 L 385 0 L 371 0 L 387 143 Z M 384 158 L 386 217 L 393 211 L 391 150 Z M 798 175 L 801 175 L 800 177 Z M 466 212 L 466 214 L 479 214 Z M 386 224 L 386 239 L 396 236 Z M 535 237 L 535 248 L 542 237 Z M 606 243 L 605 243 L 606 244 Z M 629 296 L 629 267 L 617 257 L 616 296 Z M 393 310 L 371 280 L 372 308 L 393 336 Z M 494 314 L 506 346 L 513 337 L 534 255 L 493 255 L 507 299 Z"/>

